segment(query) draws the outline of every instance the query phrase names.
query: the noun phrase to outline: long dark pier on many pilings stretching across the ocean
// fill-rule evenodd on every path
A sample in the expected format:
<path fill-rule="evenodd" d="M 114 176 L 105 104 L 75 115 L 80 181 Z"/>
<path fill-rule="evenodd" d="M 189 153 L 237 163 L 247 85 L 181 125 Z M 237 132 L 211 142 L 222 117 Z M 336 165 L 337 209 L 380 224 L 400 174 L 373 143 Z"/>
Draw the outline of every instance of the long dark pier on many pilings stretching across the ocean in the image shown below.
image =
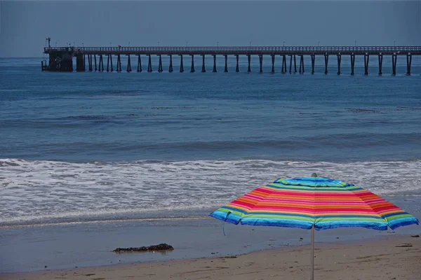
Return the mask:
<path fill-rule="evenodd" d="M 368 64 L 370 57 L 375 56 L 378 60 L 378 74 L 382 75 L 383 56 L 392 57 L 392 75 L 396 75 L 396 62 L 398 56 L 406 57 L 406 75 L 410 75 L 413 55 L 421 55 L 421 46 L 294 46 L 294 47 L 48 47 L 44 48 L 44 53 L 48 55 L 41 62 L 43 71 L 74 71 L 73 57 L 76 57 L 76 71 L 86 71 L 86 61 L 88 71 L 114 71 L 113 56 L 116 58 L 115 69 L 121 72 L 121 56 L 127 56 L 126 71 L 131 72 L 132 60 L 137 63 L 137 71 L 142 72 L 142 56 L 147 59 L 147 72 L 152 72 L 152 55 L 159 57 L 158 72 L 163 71 L 162 56 L 169 60 L 168 72 L 173 72 L 173 55 L 180 59 L 179 71 L 184 72 L 183 56 L 190 57 L 191 66 L 189 71 L 194 72 L 194 56 L 202 57 L 201 72 L 206 72 L 205 57 L 213 57 L 213 72 L 217 71 L 217 55 L 225 58 L 224 72 L 228 71 L 228 56 L 236 57 L 236 72 L 239 72 L 239 56 L 246 56 L 248 61 L 247 71 L 251 71 L 250 57 L 259 57 L 259 72 L 262 73 L 263 56 L 271 57 L 272 73 L 275 69 L 275 58 L 281 59 L 281 73 L 297 72 L 297 60 L 299 59 L 299 72 L 305 72 L 304 58 L 309 57 L 312 62 L 311 73 L 314 73 L 316 56 L 321 56 L 324 60 L 324 73 L 328 74 L 328 62 L 330 57 L 335 57 L 338 67 L 337 74 L 341 73 L 342 55 L 347 55 L 351 60 L 351 75 L 354 75 L 355 57 L 364 57 L 364 74 L 368 75 Z M 98 58 L 97 58 L 98 57 Z M 136 59 L 137 57 L 137 59 Z M 107 67 L 104 60 L 107 59 Z M 97 63 L 98 62 L 98 63 Z M 187 62 L 188 63 L 188 62 Z"/>

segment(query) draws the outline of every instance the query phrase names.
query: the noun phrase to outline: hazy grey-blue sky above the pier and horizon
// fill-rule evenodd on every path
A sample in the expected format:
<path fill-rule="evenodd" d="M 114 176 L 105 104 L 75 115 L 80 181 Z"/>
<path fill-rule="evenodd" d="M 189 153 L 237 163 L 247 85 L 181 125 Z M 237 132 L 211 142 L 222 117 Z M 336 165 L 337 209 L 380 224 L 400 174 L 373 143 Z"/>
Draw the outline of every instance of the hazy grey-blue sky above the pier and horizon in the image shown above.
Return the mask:
<path fill-rule="evenodd" d="M 51 45 L 421 45 L 421 1 L 4 1 L 0 57 Z"/>

